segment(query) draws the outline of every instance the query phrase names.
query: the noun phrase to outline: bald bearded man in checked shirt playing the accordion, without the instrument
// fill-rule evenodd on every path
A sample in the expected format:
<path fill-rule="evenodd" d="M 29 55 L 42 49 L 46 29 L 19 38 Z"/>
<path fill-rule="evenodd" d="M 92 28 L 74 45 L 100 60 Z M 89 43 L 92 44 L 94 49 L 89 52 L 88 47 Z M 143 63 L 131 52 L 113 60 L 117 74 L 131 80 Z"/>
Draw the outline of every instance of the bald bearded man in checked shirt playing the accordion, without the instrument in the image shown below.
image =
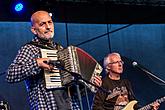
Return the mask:
<path fill-rule="evenodd" d="M 15 60 L 8 68 L 7 81 L 11 83 L 25 81 L 32 110 L 79 110 L 79 106 L 68 97 L 67 88 L 46 89 L 44 69 L 52 66 L 41 58 L 40 49 L 62 49 L 53 42 L 54 23 L 46 11 L 37 11 L 31 16 L 31 31 L 34 39 L 19 50 Z"/>

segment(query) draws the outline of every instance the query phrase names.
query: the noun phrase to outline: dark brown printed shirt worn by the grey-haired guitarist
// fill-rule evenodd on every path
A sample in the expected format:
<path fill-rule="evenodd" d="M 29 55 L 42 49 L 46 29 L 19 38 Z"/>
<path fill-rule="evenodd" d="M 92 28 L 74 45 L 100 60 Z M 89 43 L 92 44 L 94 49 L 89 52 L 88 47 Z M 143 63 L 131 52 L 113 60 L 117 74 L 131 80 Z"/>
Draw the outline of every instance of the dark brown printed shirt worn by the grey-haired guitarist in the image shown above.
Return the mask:
<path fill-rule="evenodd" d="M 135 99 L 131 84 L 126 79 L 112 80 L 106 76 L 103 79 L 102 87 L 111 93 L 97 91 L 93 110 L 121 110 L 128 102 Z"/>

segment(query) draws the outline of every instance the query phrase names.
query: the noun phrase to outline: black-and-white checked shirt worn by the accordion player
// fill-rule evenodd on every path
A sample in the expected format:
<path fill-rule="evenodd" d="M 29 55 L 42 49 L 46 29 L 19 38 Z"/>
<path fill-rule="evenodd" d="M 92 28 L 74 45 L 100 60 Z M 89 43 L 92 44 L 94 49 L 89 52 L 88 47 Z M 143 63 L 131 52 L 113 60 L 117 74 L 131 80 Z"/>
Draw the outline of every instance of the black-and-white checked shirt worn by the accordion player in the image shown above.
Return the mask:
<path fill-rule="evenodd" d="M 57 110 L 53 91 L 45 88 L 43 71 L 35 60 L 40 57 L 39 47 L 31 44 L 22 46 L 9 66 L 6 78 L 10 83 L 25 81 L 32 110 Z M 77 102 L 77 98 L 72 97 L 73 110 L 79 110 Z"/>

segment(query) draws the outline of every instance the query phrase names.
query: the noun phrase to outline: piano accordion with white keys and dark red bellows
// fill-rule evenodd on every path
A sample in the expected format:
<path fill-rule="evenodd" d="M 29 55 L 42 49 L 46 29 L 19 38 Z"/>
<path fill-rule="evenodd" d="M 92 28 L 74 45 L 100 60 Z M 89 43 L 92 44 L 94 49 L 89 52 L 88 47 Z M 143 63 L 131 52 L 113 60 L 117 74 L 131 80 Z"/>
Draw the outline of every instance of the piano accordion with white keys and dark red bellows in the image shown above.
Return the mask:
<path fill-rule="evenodd" d="M 50 61 L 62 61 L 63 68 L 67 70 L 60 70 L 56 67 L 53 71 L 44 70 L 47 89 L 60 88 L 70 84 L 75 79 L 70 72 L 79 74 L 88 81 L 92 81 L 95 75 L 102 72 L 102 67 L 91 55 L 75 46 L 68 46 L 60 51 L 41 49 L 41 55 L 43 58 L 49 58 Z"/>

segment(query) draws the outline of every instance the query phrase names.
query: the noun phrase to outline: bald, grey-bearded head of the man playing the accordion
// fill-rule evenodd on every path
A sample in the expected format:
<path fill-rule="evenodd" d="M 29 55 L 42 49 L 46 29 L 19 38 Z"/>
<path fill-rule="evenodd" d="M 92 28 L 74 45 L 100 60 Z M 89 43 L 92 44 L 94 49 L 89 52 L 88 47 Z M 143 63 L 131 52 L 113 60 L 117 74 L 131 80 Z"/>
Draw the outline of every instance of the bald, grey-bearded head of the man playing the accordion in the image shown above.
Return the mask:
<path fill-rule="evenodd" d="M 54 36 L 54 23 L 47 11 L 37 11 L 31 16 L 31 31 L 41 39 L 49 40 Z"/>

